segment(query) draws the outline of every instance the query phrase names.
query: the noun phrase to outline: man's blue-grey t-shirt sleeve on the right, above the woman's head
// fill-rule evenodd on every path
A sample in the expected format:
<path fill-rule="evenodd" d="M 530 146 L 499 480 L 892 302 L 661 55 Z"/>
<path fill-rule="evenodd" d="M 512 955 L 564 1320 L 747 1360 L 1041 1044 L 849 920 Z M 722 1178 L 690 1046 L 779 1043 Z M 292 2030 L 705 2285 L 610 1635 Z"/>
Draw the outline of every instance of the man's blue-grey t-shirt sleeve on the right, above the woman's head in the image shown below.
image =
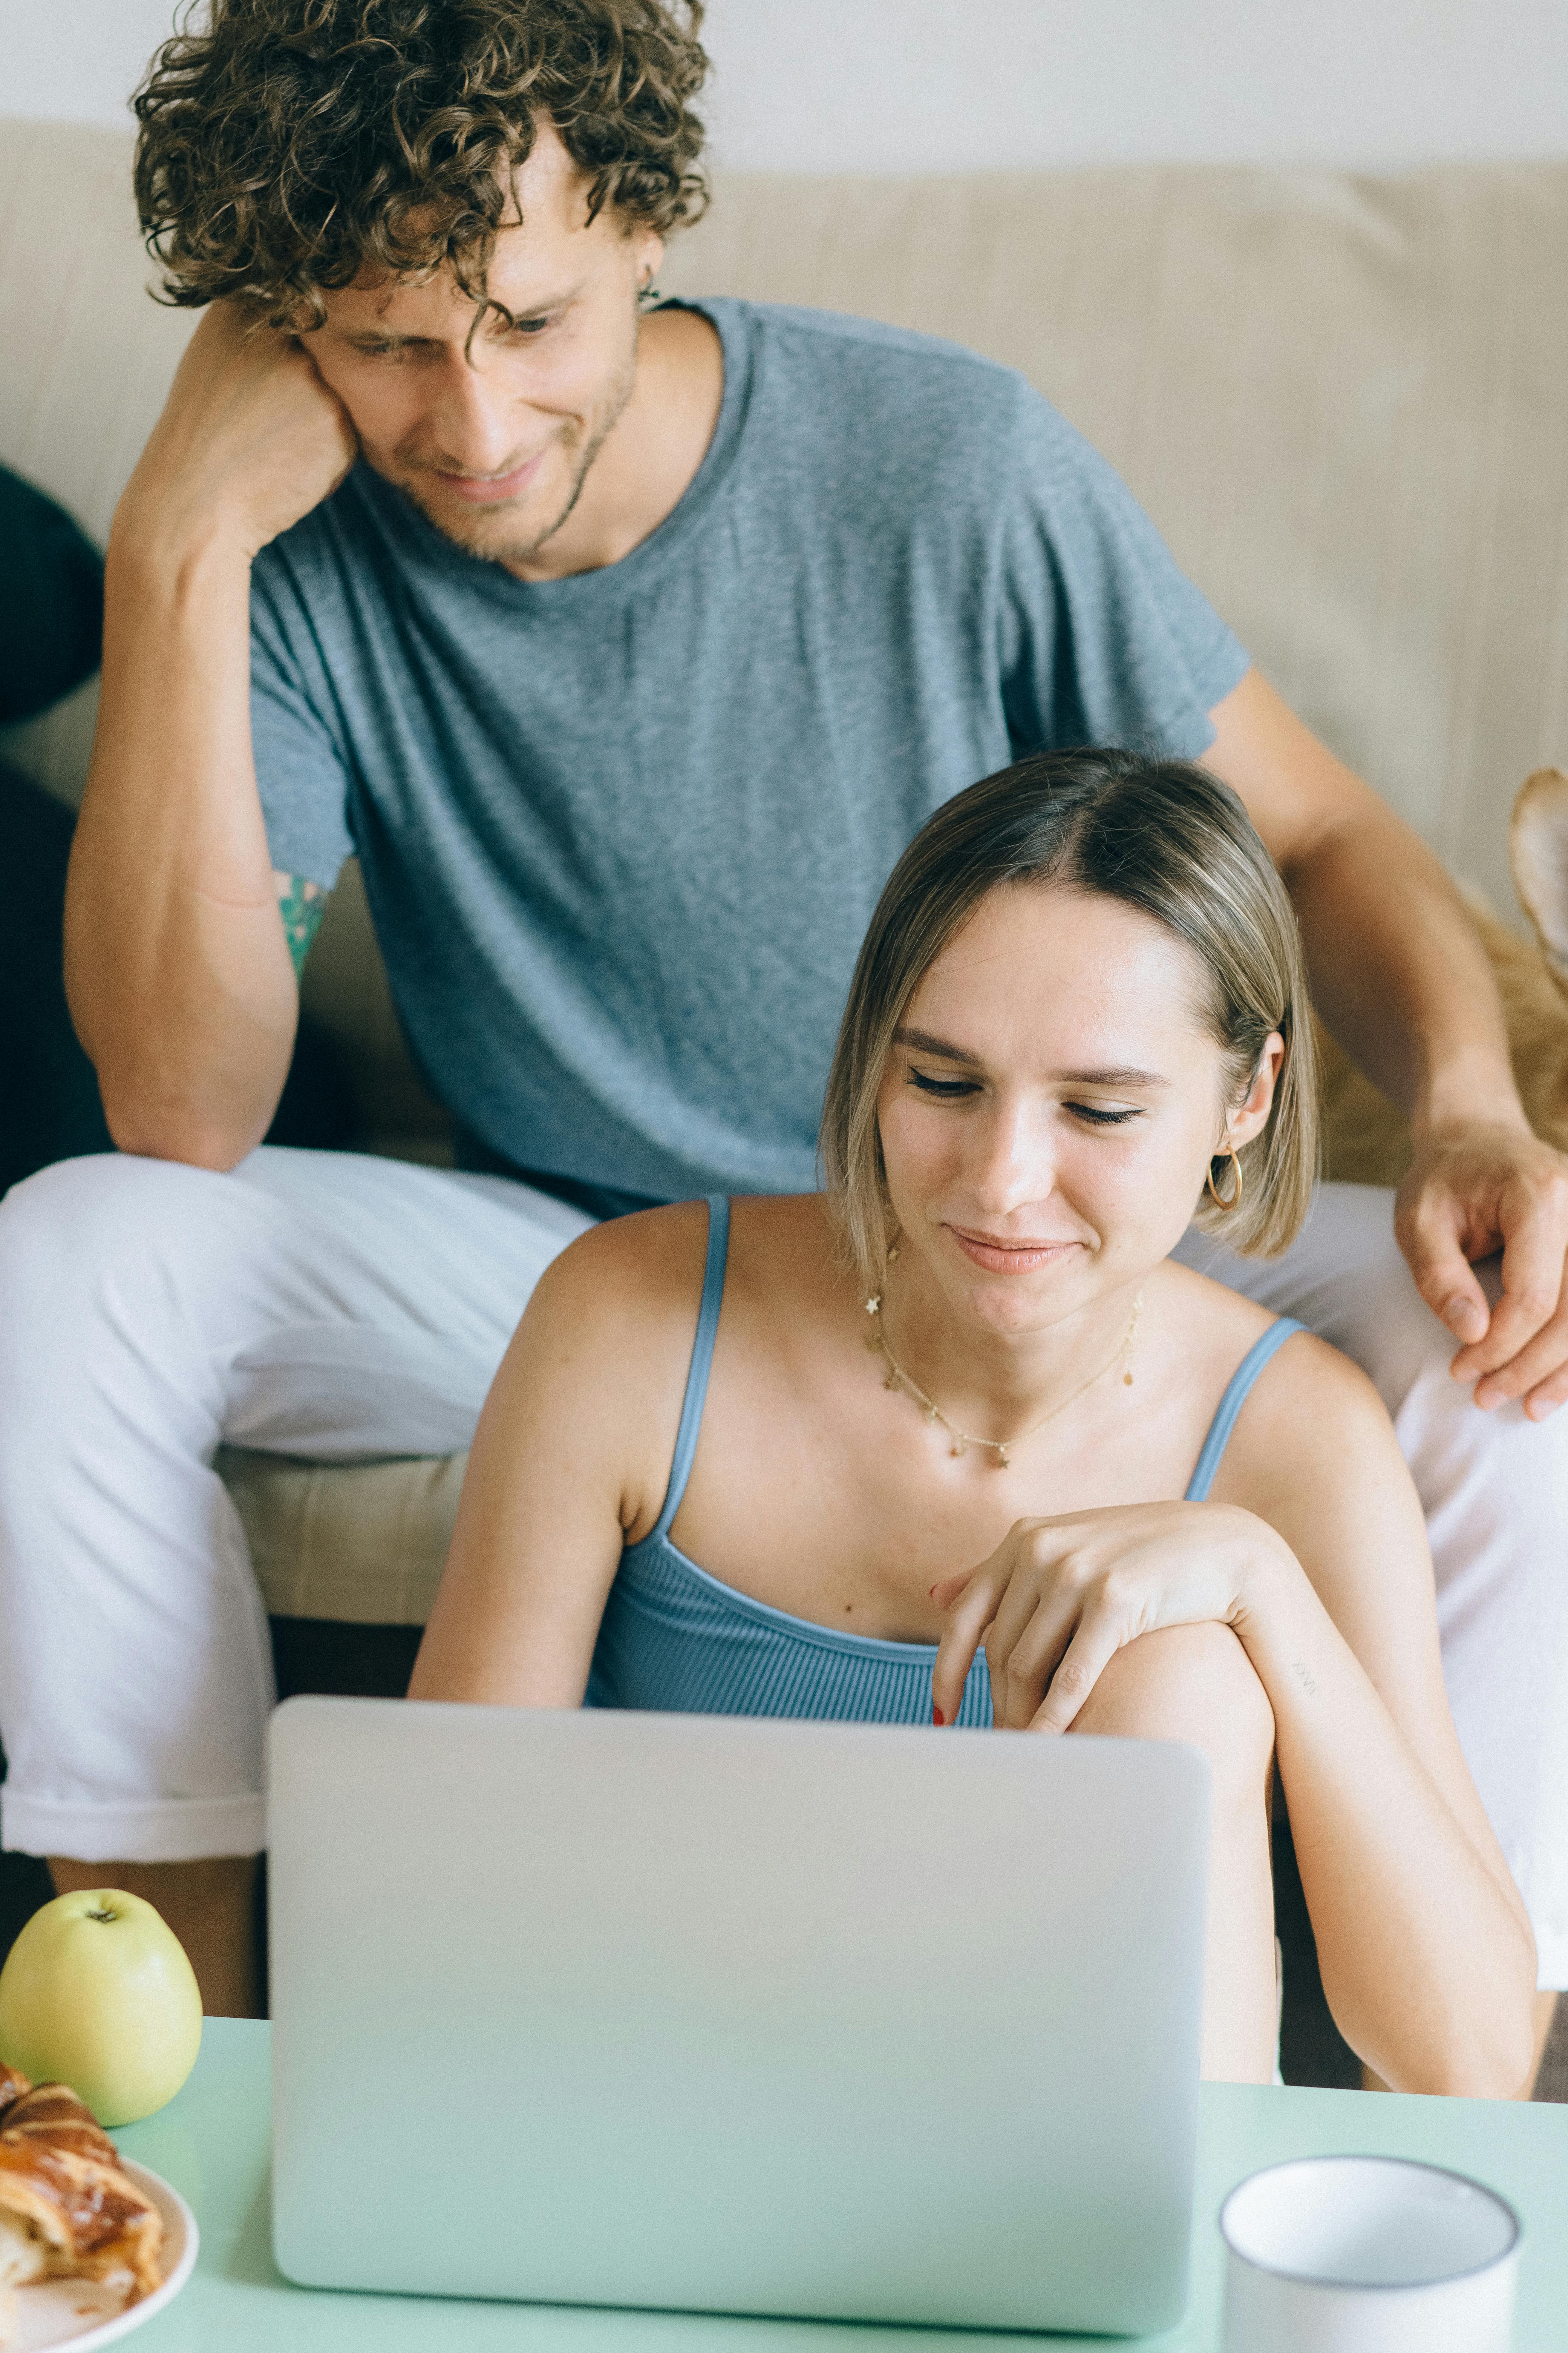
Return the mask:
<path fill-rule="evenodd" d="M 1001 671 L 1016 753 L 1072 744 L 1197 760 L 1246 647 L 1121 478 L 1020 384 L 1001 525 Z"/>

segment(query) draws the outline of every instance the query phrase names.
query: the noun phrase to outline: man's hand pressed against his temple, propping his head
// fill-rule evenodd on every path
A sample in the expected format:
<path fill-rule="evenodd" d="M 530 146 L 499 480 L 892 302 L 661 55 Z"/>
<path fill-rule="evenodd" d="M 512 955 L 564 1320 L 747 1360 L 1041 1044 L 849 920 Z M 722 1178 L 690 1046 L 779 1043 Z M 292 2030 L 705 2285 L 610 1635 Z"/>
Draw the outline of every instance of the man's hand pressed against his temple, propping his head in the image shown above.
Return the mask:
<path fill-rule="evenodd" d="M 244 562 L 327 499 L 357 454 L 348 409 L 292 334 L 228 301 L 202 318 L 115 532 L 160 551 L 216 532 Z"/>

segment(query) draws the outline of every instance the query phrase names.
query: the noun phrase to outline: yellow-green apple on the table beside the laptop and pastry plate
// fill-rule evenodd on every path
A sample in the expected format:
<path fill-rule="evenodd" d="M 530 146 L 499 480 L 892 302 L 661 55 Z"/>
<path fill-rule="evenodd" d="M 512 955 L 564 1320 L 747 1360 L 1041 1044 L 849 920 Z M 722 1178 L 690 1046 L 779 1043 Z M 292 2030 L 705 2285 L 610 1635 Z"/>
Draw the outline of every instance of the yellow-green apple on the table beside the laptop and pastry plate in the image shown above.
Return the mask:
<path fill-rule="evenodd" d="M 33 2082 L 68 2082 L 106 2129 L 172 2101 L 200 2047 L 183 1944 L 118 1887 L 45 1904 L 0 1969 L 0 2059 Z"/>

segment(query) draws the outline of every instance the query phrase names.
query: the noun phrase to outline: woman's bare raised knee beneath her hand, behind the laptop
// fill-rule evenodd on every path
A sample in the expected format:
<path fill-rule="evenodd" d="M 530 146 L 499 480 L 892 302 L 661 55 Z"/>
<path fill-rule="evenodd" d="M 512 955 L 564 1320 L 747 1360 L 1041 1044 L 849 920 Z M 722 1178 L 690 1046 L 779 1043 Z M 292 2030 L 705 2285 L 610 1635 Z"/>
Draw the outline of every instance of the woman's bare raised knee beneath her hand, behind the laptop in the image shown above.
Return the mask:
<path fill-rule="evenodd" d="M 1229 1626 L 1164 1626 L 1119 1649 L 1091 1692 L 1077 1732 L 1187 1741 L 1215 1784 L 1262 1786 L 1274 1760 L 1274 1708 Z"/>

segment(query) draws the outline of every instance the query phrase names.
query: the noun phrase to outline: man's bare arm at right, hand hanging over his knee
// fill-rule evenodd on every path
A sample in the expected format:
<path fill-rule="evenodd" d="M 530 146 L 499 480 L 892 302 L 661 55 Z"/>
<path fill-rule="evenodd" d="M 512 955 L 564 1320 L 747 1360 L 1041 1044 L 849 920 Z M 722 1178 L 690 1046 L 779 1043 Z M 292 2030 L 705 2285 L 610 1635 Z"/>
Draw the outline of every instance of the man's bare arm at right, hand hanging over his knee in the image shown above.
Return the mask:
<path fill-rule="evenodd" d="M 1526 1120 L 1502 1002 L 1427 845 L 1251 671 L 1211 713 L 1206 767 L 1248 807 L 1295 901 L 1324 1019 L 1415 1129 L 1396 1233 L 1465 1346 L 1476 1405 L 1568 1398 L 1568 1160 Z M 1495 1313 L 1472 1273 L 1502 1249 Z"/>

